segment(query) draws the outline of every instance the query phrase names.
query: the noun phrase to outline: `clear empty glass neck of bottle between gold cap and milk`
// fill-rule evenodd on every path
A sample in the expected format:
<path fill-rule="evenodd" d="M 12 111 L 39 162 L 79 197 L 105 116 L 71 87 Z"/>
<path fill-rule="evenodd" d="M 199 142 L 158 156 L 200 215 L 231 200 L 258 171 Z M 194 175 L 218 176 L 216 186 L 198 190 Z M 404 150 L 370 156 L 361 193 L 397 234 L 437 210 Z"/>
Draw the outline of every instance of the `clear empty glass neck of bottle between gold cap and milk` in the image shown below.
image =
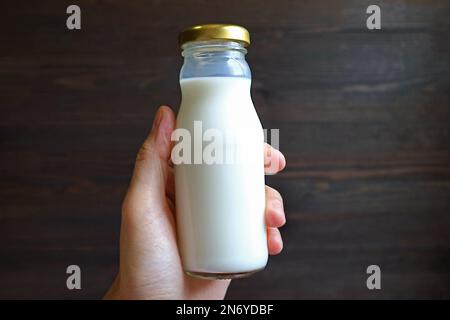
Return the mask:
<path fill-rule="evenodd" d="M 209 40 L 188 42 L 182 47 L 184 64 L 180 80 L 195 77 L 251 78 L 245 60 L 247 50 L 239 42 Z"/>

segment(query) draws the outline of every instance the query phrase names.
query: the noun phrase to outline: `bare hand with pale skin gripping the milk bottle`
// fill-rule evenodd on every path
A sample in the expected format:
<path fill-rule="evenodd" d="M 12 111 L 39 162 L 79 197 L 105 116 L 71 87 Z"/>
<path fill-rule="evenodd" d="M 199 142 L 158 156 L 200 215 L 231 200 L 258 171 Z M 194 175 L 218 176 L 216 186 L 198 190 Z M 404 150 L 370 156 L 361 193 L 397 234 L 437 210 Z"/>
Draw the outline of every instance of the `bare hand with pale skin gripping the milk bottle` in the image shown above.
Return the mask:
<path fill-rule="evenodd" d="M 183 272 L 177 246 L 170 136 L 175 115 L 159 107 L 152 130 L 139 150 L 122 204 L 120 268 L 105 299 L 223 299 L 230 280 L 203 280 Z M 269 165 L 269 162 L 276 165 Z M 266 173 L 281 171 L 281 152 L 266 145 Z M 278 191 L 266 186 L 269 254 L 281 252 L 279 227 L 286 222 Z"/>

